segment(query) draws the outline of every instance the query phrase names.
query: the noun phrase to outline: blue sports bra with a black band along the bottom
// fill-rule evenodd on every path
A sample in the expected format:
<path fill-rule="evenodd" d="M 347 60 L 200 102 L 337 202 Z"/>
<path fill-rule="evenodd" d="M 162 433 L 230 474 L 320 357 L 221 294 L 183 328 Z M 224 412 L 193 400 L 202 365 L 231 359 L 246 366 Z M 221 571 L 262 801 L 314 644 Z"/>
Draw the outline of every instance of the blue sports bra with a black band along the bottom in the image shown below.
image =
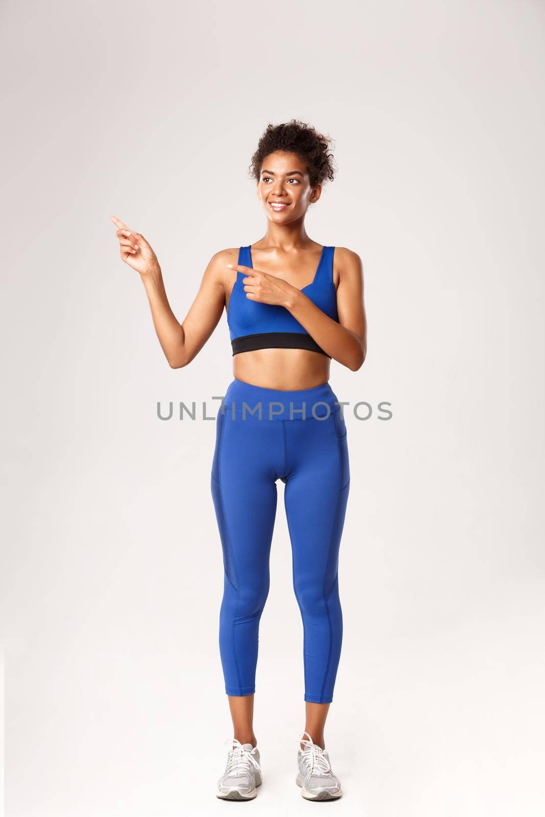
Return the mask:
<path fill-rule="evenodd" d="M 338 323 L 337 291 L 333 283 L 334 252 L 334 247 L 323 248 L 314 280 L 301 292 Z M 253 269 L 251 245 L 239 249 L 238 263 Z M 247 298 L 242 283 L 245 277 L 245 273 L 237 272 L 227 311 L 233 355 L 256 349 L 308 349 L 331 358 L 285 306 L 262 304 Z"/>

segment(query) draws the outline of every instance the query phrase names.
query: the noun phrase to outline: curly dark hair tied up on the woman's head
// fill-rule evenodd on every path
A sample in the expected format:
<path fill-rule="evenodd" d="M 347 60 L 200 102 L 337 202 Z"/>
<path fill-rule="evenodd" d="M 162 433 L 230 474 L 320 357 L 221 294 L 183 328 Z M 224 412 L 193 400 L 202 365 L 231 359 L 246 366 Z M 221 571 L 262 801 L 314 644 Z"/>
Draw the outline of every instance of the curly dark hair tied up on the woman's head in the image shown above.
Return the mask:
<path fill-rule="evenodd" d="M 333 140 L 329 136 L 318 133 L 314 127 L 299 119 L 281 125 L 269 123 L 252 156 L 250 176 L 259 181 L 263 159 L 275 150 L 286 150 L 297 154 L 306 164 L 310 185 L 323 185 L 324 181 L 333 181 L 336 171 L 333 154 L 329 152 L 332 145 Z"/>

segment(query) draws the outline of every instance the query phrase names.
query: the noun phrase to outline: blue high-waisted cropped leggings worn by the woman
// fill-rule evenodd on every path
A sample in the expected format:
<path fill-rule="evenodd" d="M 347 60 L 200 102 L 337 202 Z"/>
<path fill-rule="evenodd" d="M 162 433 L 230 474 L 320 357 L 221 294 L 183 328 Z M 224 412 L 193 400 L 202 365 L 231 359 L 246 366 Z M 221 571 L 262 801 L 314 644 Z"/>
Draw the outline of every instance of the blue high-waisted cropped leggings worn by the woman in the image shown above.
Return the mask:
<path fill-rule="evenodd" d="M 256 689 L 280 479 L 303 622 L 305 700 L 333 700 L 342 643 L 337 564 L 350 487 L 341 408 L 328 383 L 278 391 L 235 379 L 218 410 L 211 490 L 225 572 L 220 654 L 229 695 Z"/>

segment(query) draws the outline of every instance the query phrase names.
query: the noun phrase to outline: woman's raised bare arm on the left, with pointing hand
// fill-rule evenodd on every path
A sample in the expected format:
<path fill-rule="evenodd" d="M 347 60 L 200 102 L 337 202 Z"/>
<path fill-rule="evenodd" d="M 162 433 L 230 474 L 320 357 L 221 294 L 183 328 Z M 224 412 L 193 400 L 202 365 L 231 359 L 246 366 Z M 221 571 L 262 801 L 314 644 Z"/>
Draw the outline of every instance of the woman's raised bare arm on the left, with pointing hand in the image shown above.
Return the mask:
<path fill-rule="evenodd" d="M 221 250 L 212 256 L 204 270 L 199 292 L 180 324 L 168 303 L 161 267 L 150 243 L 140 233 L 130 230 L 123 221 L 114 216 L 110 218 L 118 226 L 123 261 L 141 276 L 155 332 L 168 364 L 172 368 L 187 366 L 199 354 L 221 318 L 226 303 L 226 265 L 236 262 L 236 251 Z M 136 252 L 132 252 L 133 249 Z"/>

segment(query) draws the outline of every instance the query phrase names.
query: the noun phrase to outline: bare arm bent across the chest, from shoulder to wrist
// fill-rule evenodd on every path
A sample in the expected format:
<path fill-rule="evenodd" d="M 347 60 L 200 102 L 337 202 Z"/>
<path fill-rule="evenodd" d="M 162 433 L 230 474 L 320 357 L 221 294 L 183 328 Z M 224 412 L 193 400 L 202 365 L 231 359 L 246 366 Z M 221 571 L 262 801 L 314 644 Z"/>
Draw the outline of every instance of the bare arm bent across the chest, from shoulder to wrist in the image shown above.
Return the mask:
<path fill-rule="evenodd" d="M 357 372 L 367 354 L 363 266 L 360 256 L 346 247 L 335 248 L 335 266 L 340 270 L 338 324 L 295 287 L 289 288 L 284 306 L 324 352 Z"/>

